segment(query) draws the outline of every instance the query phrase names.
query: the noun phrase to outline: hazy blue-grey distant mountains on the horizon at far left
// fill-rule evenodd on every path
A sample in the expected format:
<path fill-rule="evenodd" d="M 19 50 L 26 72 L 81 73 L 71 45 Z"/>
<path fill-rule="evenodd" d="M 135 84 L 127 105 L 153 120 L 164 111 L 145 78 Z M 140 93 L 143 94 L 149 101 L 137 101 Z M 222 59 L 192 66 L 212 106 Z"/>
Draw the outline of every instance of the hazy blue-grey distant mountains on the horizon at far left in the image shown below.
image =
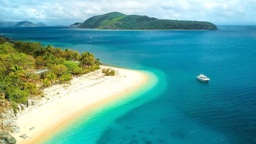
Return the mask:
<path fill-rule="evenodd" d="M 45 23 L 31 23 L 29 21 L 21 21 L 21 22 L 0 22 L 0 26 L 49 26 Z M 63 25 L 56 25 L 63 26 Z"/>

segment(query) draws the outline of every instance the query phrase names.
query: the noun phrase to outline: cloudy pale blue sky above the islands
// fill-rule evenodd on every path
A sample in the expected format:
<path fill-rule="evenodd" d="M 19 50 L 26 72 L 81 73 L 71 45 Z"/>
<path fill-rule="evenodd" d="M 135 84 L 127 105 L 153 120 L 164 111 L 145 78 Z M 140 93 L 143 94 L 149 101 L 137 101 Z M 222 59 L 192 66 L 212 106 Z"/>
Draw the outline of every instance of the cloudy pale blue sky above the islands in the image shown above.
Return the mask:
<path fill-rule="evenodd" d="M 69 26 L 94 15 L 121 12 L 216 25 L 256 25 L 255 8 L 256 0 L 0 0 L 0 22 Z"/>

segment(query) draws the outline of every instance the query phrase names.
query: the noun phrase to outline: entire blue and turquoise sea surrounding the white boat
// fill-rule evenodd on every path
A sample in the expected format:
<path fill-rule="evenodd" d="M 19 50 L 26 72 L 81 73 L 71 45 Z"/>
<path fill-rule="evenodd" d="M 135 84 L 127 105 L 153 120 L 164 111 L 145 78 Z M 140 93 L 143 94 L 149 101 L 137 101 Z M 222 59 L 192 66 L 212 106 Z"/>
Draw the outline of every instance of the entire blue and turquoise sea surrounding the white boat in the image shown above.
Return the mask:
<path fill-rule="evenodd" d="M 71 118 L 44 144 L 256 143 L 256 26 L 218 31 L 119 31 L 1 27 L 13 41 L 42 42 L 151 75 L 120 100 Z M 209 83 L 196 79 L 200 73 Z"/>

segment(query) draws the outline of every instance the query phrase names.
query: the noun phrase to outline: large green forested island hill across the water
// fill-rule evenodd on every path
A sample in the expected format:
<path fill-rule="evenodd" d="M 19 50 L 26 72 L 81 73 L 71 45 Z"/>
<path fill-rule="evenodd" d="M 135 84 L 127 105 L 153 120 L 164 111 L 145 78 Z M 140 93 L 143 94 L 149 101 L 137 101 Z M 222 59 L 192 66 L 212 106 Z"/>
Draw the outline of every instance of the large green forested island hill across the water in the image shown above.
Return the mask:
<path fill-rule="evenodd" d="M 217 26 L 205 21 L 163 20 L 146 15 L 125 15 L 110 12 L 93 16 L 84 21 L 78 28 L 84 29 L 155 29 L 155 30 L 218 30 Z"/>

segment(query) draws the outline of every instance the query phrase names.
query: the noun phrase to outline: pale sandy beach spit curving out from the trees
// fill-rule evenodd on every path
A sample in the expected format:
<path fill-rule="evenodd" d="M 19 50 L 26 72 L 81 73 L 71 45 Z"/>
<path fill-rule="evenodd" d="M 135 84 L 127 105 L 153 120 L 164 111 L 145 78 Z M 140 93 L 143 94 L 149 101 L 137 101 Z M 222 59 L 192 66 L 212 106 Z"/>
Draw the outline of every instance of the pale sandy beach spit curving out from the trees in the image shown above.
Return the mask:
<path fill-rule="evenodd" d="M 105 67 L 108 68 L 108 67 Z M 20 113 L 17 123 L 21 131 L 11 134 L 17 144 L 32 144 L 42 139 L 70 118 L 109 99 L 138 88 L 148 76 L 142 72 L 113 68 L 116 76 L 105 76 L 101 69 L 73 78 L 70 83 L 53 85 L 43 90 L 38 106 Z M 30 128 L 34 129 L 30 130 Z M 19 137 L 26 134 L 29 138 Z"/>

